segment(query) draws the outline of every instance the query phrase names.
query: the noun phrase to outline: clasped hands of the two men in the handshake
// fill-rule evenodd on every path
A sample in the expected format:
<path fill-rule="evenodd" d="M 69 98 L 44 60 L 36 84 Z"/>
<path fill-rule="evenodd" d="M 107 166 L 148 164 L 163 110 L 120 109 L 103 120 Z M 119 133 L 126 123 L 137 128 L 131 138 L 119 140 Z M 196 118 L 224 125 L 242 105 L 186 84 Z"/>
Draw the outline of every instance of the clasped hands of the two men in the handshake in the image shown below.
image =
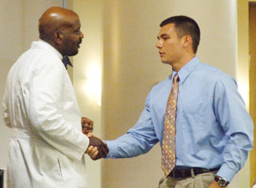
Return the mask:
<path fill-rule="evenodd" d="M 88 149 L 86 150 L 86 154 L 90 155 L 91 160 L 99 160 L 101 158 L 105 158 L 108 154 L 108 148 L 106 143 L 102 142 L 102 140 L 98 139 L 96 136 L 89 134 L 88 136 L 90 143 Z"/>

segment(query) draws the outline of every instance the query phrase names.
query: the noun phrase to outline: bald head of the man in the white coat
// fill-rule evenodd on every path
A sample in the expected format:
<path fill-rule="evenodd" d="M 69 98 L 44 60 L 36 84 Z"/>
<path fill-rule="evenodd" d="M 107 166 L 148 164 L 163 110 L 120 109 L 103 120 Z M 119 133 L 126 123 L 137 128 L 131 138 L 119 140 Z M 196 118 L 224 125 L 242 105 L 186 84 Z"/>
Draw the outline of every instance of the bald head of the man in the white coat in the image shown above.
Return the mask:
<path fill-rule="evenodd" d="M 53 7 L 39 18 L 39 38 L 50 43 L 63 56 L 76 55 L 83 38 L 78 15 L 69 9 Z"/>

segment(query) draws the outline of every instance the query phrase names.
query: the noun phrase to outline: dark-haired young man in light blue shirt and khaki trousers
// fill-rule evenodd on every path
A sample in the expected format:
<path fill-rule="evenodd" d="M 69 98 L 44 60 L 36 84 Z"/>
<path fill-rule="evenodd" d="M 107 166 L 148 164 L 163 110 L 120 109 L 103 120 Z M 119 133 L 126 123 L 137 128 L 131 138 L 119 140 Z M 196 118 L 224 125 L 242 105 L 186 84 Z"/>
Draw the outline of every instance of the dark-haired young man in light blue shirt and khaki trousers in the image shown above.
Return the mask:
<path fill-rule="evenodd" d="M 166 104 L 178 74 L 175 168 L 160 180 L 159 188 L 227 187 L 252 149 L 253 121 L 236 81 L 196 57 L 200 28 L 195 20 L 175 16 L 160 27 L 156 47 L 173 73 L 150 91 L 135 126 L 117 140 L 106 141 L 107 158 L 141 155 L 158 142 L 163 146 Z"/>

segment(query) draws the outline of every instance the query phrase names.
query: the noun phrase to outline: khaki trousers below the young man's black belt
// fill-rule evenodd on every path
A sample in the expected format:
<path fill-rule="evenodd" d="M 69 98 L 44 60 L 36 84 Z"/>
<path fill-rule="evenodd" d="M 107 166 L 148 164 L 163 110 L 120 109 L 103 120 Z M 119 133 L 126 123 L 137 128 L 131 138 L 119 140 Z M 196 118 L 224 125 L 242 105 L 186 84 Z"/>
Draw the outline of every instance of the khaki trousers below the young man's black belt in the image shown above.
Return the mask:
<path fill-rule="evenodd" d="M 217 171 L 207 172 L 181 180 L 164 176 L 159 181 L 159 188 L 207 188 L 212 184 L 216 173 Z"/>

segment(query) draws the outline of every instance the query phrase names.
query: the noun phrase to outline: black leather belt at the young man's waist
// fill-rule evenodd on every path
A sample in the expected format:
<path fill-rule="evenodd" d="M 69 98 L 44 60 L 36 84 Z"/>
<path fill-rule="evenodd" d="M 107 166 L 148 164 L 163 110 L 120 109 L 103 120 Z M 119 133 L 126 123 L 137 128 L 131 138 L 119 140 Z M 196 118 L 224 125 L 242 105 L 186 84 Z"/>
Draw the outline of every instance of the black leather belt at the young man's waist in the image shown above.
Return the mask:
<path fill-rule="evenodd" d="M 168 176 L 173 177 L 175 179 L 183 179 L 183 178 L 191 177 L 192 174 L 200 175 L 210 171 L 217 171 L 219 169 L 220 168 L 216 168 L 216 169 L 204 169 L 204 168 L 184 168 L 183 169 L 181 168 L 181 169 L 172 170 Z"/>

